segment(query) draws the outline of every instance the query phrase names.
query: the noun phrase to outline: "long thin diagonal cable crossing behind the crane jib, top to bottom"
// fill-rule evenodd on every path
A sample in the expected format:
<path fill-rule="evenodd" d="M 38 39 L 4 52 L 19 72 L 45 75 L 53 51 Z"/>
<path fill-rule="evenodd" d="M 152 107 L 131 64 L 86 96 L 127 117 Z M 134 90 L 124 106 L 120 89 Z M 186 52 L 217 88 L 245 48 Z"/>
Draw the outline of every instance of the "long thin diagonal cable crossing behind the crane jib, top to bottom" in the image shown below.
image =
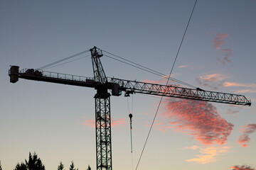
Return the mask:
<path fill-rule="evenodd" d="M 187 26 L 186 26 L 186 29 L 185 29 L 184 33 L 183 33 L 183 37 L 182 37 L 182 39 L 181 39 L 181 43 L 180 43 L 180 45 L 179 45 L 179 47 L 178 47 L 178 51 L 177 51 L 177 54 L 176 54 L 176 57 L 175 57 L 175 60 L 174 60 L 174 64 L 173 64 L 173 66 L 171 67 L 171 71 L 170 71 L 170 74 L 169 74 L 169 78 L 171 77 L 171 73 L 172 73 L 172 71 L 173 71 L 173 69 L 174 69 L 174 65 L 175 65 L 175 63 L 176 63 L 176 60 L 177 60 L 177 57 L 178 57 L 178 53 L 179 53 L 179 51 L 181 50 L 181 45 L 182 45 L 183 40 L 184 40 L 184 37 L 185 37 L 185 35 L 186 35 L 186 31 L 187 31 L 187 29 L 188 29 L 188 25 L 189 25 L 189 23 L 190 23 L 190 21 L 191 21 L 191 17 L 192 17 L 192 15 L 193 15 L 193 11 L 194 11 L 194 9 L 195 9 L 195 7 L 196 7 L 196 2 L 197 2 L 197 0 L 195 1 L 195 4 L 194 4 L 194 6 L 193 6 L 193 10 L 191 11 L 191 16 L 190 16 L 189 19 L 188 19 L 188 24 L 187 24 Z M 169 82 L 169 79 L 167 79 L 166 85 L 168 84 L 168 82 Z M 152 127 L 153 127 L 153 125 L 154 125 L 154 121 L 156 120 L 156 115 L 157 115 L 157 113 L 158 113 L 158 111 L 159 111 L 159 108 L 160 108 L 160 105 L 161 105 L 161 101 L 163 100 L 163 97 L 164 97 L 164 96 L 161 96 L 161 99 L 160 99 L 160 101 L 159 101 L 159 105 L 158 105 L 158 107 L 157 107 L 157 109 L 156 109 L 156 113 L 155 113 L 155 115 L 154 115 L 154 119 L 153 119 L 153 121 L 152 121 L 152 123 L 151 123 L 150 129 L 149 129 L 149 133 L 148 133 L 148 135 L 147 135 L 147 137 L 146 137 L 146 141 L 145 141 L 145 143 L 144 143 L 144 147 L 143 147 L 143 149 L 142 149 L 142 153 L 141 153 L 141 155 L 140 155 L 140 157 L 139 157 L 139 161 L 138 161 L 138 163 L 137 163 L 137 166 L 136 166 L 136 169 L 135 169 L 135 170 L 137 170 L 137 168 L 138 168 L 138 166 L 139 166 L 139 162 L 140 162 L 140 160 L 142 159 L 142 154 L 143 154 L 144 149 L 145 149 L 145 147 L 146 147 L 146 142 L 149 140 L 149 135 L 150 135 L 150 132 L 151 132 Z"/>

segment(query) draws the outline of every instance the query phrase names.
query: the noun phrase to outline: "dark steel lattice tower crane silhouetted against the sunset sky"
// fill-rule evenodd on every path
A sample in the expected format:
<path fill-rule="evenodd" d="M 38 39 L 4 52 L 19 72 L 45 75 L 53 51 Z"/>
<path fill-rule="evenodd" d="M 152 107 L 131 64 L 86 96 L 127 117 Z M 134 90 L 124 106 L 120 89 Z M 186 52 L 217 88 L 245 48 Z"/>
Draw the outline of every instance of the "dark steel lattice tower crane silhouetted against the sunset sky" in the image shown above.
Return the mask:
<path fill-rule="evenodd" d="M 110 96 L 121 96 L 122 91 L 124 91 L 124 96 L 138 93 L 242 106 L 251 105 L 250 100 L 247 100 L 245 96 L 238 94 L 227 94 L 215 91 L 204 91 L 199 88 L 188 89 L 172 85 L 108 78 L 105 75 L 102 63 L 100 62 L 100 57 L 103 56 L 102 50 L 93 47 L 90 49 L 90 53 L 92 57 L 93 77 L 46 72 L 38 69 L 19 69 L 18 66 L 11 66 L 9 69 L 9 77 L 11 83 L 16 83 L 18 79 L 29 79 L 57 84 L 90 87 L 97 91 L 94 96 L 97 170 L 112 170 Z"/>

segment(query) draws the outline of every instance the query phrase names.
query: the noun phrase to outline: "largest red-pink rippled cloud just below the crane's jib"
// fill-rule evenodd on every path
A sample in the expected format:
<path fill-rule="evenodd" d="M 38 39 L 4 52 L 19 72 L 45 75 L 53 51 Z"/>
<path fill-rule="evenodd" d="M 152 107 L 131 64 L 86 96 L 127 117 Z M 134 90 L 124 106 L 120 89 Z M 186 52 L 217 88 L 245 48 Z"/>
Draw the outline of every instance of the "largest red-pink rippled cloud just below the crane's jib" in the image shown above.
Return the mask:
<path fill-rule="evenodd" d="M 169 120 L 169 128 L 191 135 L 203 145 L 223 145 L 233 130 L 233 124 L 221 118 L 217 109 L 206 101 L 176 98 L 164 101 L 164 105 L 166 111 L 160 116 Z"/>

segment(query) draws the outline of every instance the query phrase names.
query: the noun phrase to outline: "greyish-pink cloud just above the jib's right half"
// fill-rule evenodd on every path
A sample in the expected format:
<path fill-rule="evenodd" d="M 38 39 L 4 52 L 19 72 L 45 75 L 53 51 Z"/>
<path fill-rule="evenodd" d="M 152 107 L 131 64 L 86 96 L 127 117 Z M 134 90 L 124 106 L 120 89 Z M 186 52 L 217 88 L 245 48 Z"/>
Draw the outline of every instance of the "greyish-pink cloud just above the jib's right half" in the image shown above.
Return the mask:
<path fill-rule="evenodd" d="M 223 85 L 225 79 L 228 79 L 225 74 L 208 74 L 197 78 L 196 81 L 203 87 L 217 90 L 219 86 Z"/>

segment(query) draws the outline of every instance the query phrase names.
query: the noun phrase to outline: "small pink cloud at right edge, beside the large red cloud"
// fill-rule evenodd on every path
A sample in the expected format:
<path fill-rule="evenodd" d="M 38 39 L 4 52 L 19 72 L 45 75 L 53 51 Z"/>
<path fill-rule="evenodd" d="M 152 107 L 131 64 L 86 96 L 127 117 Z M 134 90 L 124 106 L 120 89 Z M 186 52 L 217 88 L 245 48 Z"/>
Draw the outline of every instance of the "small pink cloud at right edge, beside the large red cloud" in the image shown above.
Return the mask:
<path fill-rule="evenodd" d="M 252 134 L 253 132 L 256 132 L 256 124 L 248 124 L 242 127 L 243 128 L 240 129 L 242 131 L 242 135 L 240 135 L 237 142 L 242 147 L 248 147 L 249 145 L 247 145 L 246 143 L 250 142 L 249 135 Z"/>

